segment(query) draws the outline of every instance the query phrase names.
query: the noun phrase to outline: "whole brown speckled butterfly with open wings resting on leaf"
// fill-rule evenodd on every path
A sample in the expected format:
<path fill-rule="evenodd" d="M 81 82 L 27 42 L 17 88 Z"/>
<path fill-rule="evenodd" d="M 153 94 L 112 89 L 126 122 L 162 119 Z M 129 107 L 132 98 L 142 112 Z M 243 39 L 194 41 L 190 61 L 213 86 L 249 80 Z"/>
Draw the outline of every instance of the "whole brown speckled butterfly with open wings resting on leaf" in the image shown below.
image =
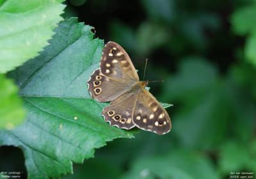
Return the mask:
<path fill-rule="evenodd" d="M 140 82 L 124 48 L 109 41 L 102 52 L 100 68 L 88 83 L 88 91 L 99 102 L 111 101 L 102 111 L 104 120 L 122 129 L 138 127 L 157 134 L 171 130 L 170 117 L 157 99 Z"/>

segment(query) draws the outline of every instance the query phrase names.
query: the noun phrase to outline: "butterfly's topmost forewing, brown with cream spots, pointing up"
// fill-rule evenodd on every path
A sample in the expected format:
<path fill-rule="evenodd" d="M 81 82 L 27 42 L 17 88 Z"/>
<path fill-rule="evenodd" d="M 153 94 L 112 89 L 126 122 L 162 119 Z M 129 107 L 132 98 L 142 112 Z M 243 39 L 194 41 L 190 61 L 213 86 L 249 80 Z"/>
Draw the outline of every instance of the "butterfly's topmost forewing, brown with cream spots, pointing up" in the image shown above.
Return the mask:
<path fill-rule="evenodd" d="M 125 82 L 139 81 L 138 74 L 124 48 L 109 41 L 102 52 L 100 71 L 103 75 Z"/>

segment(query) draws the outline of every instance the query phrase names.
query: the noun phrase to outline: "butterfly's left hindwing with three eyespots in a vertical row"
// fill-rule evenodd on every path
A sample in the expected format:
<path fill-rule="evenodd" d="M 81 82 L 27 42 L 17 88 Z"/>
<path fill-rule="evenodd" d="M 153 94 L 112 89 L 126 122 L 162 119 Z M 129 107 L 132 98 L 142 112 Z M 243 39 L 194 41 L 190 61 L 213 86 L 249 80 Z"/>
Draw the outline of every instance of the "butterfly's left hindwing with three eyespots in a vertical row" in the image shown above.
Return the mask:
<path fill-rule="evenodd" d="M 131 89 L 132 87 L 132 85 L 125 82 L 116 81 L 104 76 L 100 73 L 100 69 L 94 71 L 87 84 L 91 96 L 100 102 L 113 101 L 120 94 L 123 94 L 127 89 Z"/>

